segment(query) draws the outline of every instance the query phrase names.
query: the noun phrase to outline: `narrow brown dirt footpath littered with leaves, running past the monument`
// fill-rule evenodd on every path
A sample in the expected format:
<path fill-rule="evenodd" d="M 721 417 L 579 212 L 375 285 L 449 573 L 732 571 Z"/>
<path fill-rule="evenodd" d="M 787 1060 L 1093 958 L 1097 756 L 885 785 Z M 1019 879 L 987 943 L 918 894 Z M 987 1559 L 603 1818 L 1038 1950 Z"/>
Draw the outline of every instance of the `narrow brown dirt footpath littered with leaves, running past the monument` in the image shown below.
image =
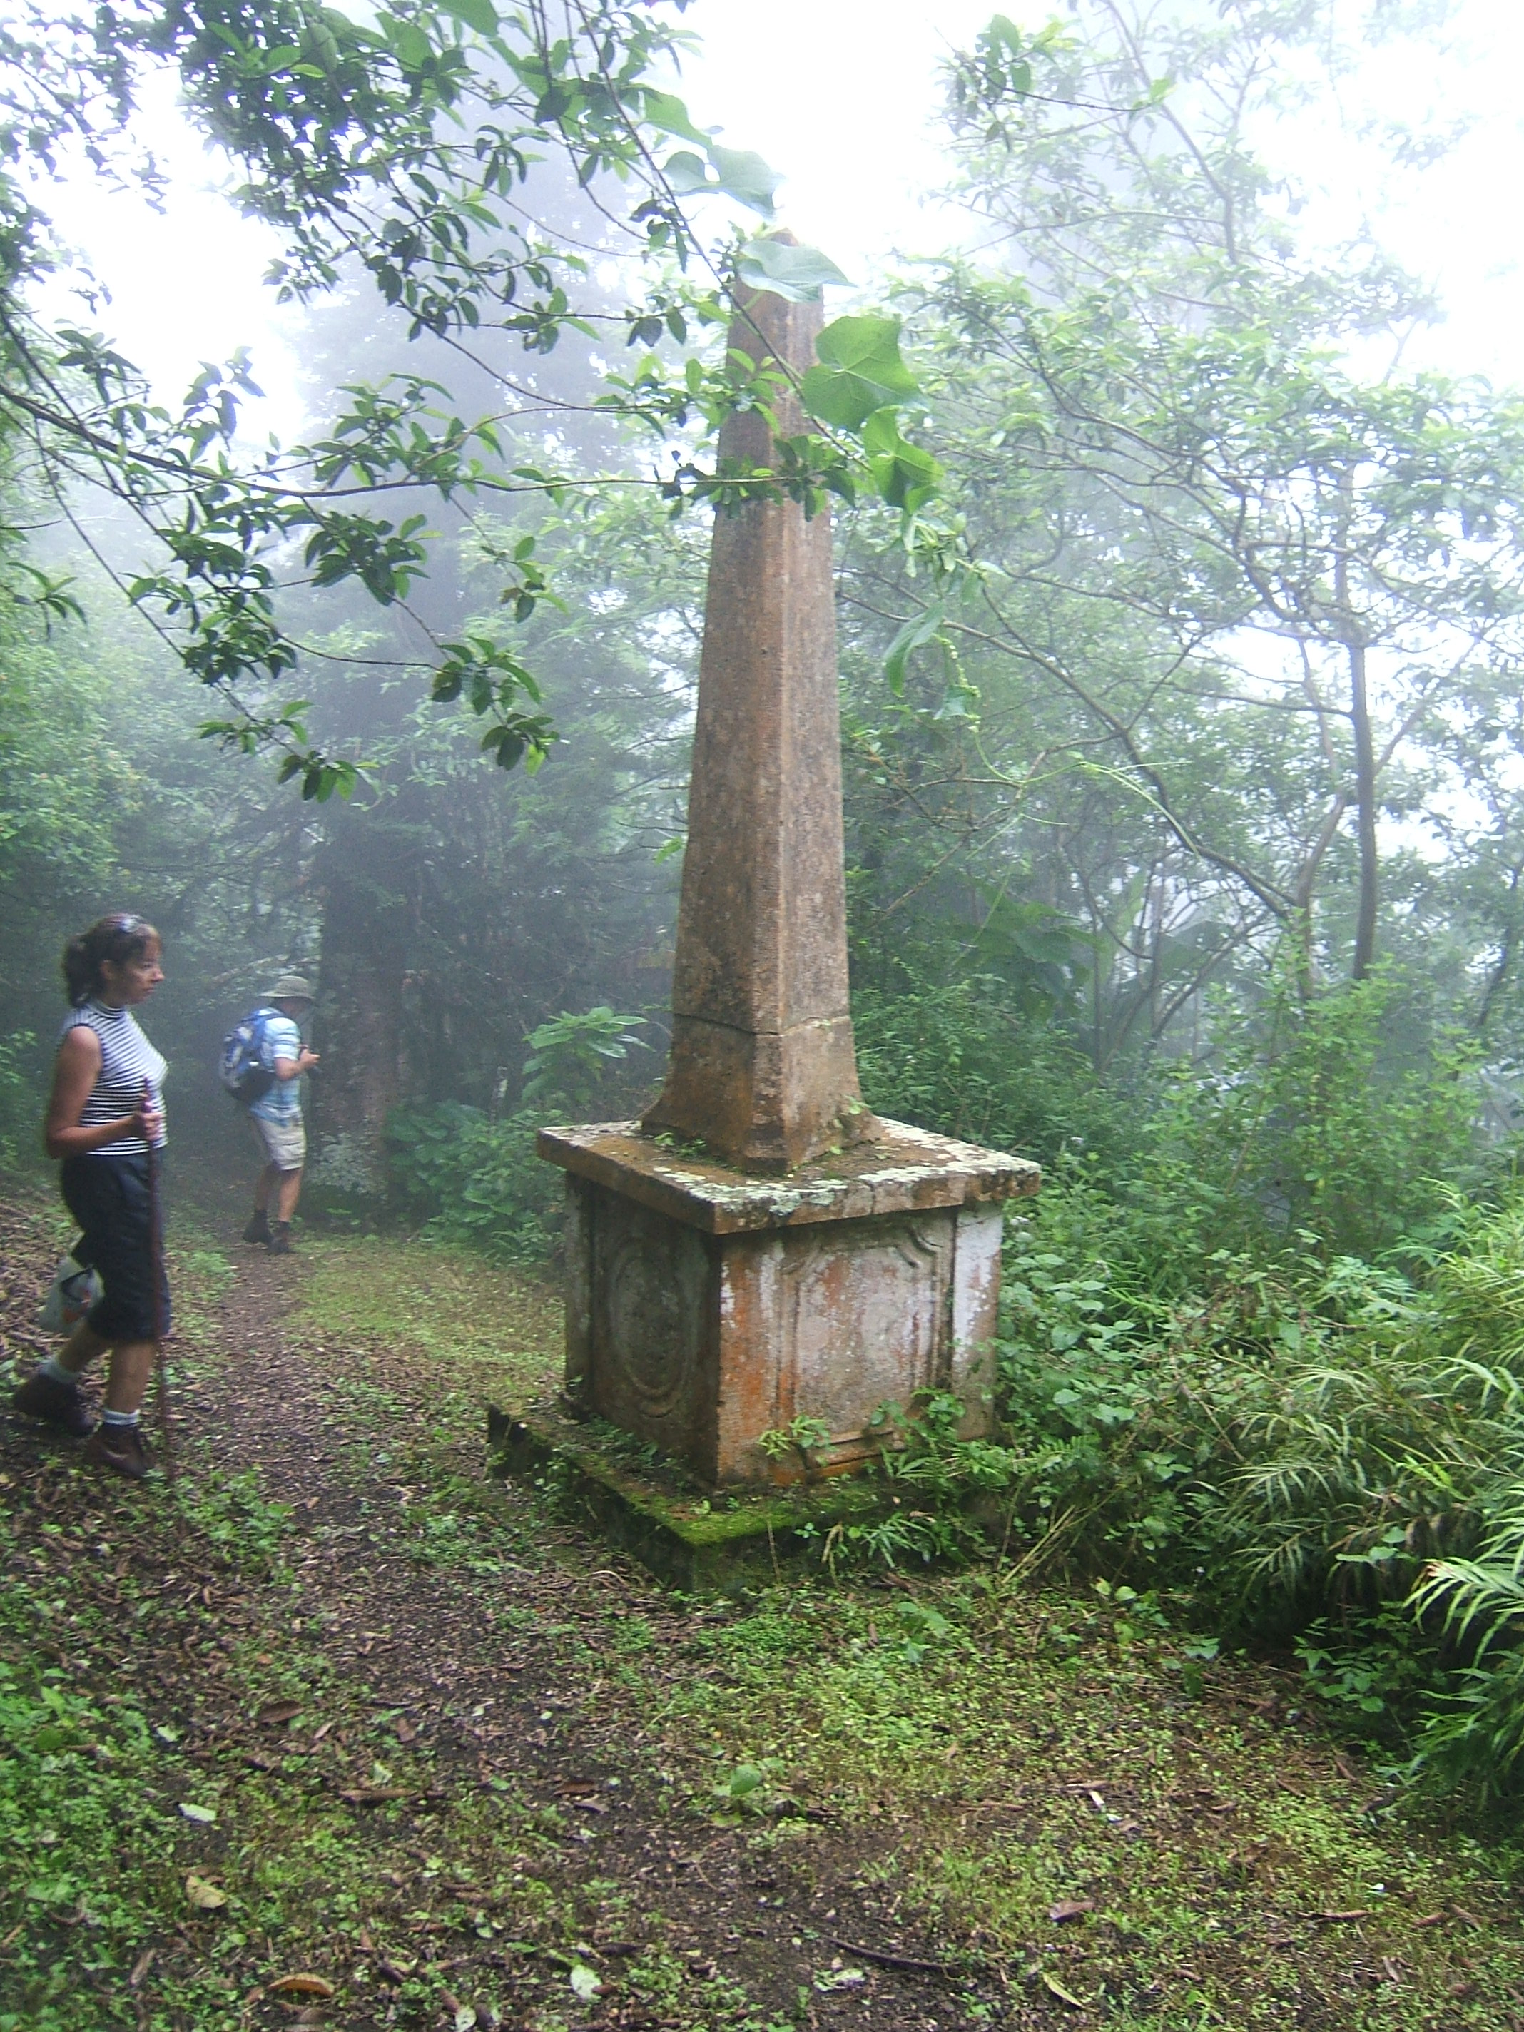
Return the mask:
<path fill-rule="evenodd" d="M 835 1859 L 817 1849 L 801 1876 L 758 1859 L 746 1825 L 717 1831 L 707 1817 L 675 1813 L 671 1786 L 652 1784 L 660 1743 L 622 1697 L 604 1650 L 620 1617 L 640 1617 L 642 1634 L 683 1670 L 695 1628 L 729 1611 L 675 1613 L 640 1569 L 547 1520 L 545 1506 L 512 1483 L 492 1483 L 484 1506 L 514 1532 L 522 1563 L 492 1573 L 486 1587 L 469 1567 L 421 1565 L 415 1512 L 423 1491 L 388 1479 L 392 1463 L 378 1463 L 392 1435 L 358 1406 L 335 1404 L 335 1388 L 282 1331 L 291 1284 L 303 1274 L 258 1252 L 240 1258 L 219 1321 L 240 1361 L 236 1394 L 215 1412 L 219 1449 L 234 1467 L 258 1467 L 270 1496 L 293 1506 L 295 1569 L 321 1615 L 339 1699 L 364 1693 L 372 1707 L 396 1713 L 398 1739 L 433 1745 L 443 1796 L 415 1825 L 423 1831 L 447 1813 L 461 1786 L 508 1780 L 520 1813 L 538 1815 L 547 1829 L 569 1823 L 545 1878 L 587 1914 L 593 1936 L 604 1930 L 606 1953 L 591 1957 L 599 1967 L 610 1953 L 618 1969 L 660 1945 L 699 1973 L 727 1975 L 770 2012 L 792 2014 L 801 1987 L 809 1993 L 813 1971 L 835 1953 L 819 1953 L 827 1908 L 839 1918 L 845 1904 L 860 1936 L 882 1934 L 876 1900 L 851 1890 L 862 1845 Z M 396 1382 L 406 1402 L 408 1384 Z M 423 1418 L 417 1384 L 412 1396 Z M 484 1469 L 482 1433 L 484 1424 L 453 1449 L 451 1465 L 471 1483 Z M 599 1904 L 622 1914 L 616 1943 L 599 1924 Z M 888 1957 L 935 1959 L 918 1941 L 868 1945 Z M 455 1965 L 473 1967 L 469 1955 Z M 457 1973 L 455 1987 L 469 1997 L 473 1981 L 475 1971 Z M 925 2028 L 939 2022 L 939 2010 L 947 2020 L 947 1985 L 925 1971 L 864 1971 L 853 1989 L 855 2024 Z M 825 2004 L 813 2010 L 833 2016 Z M 606 2022 L 658 2020 L 610 2010 Z"/>

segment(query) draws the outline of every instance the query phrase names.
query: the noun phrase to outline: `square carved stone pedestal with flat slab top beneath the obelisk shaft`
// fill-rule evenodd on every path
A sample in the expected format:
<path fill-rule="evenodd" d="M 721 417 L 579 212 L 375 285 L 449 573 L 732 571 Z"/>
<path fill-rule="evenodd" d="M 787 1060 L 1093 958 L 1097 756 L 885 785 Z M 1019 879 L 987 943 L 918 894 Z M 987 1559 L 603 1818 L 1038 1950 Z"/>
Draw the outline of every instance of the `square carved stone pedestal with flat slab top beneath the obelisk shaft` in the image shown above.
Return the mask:
<path fill-rule="evenodd" d="M 547 1128 L 567 1172 L 567 1376 L 709 1487 L 813 1481 L 892 1439 L 929 1392 L 990 1426 L 1002 1205 L 1024 1158 L 900 1122 L 786 1179 L 634 1122 Z"/>

